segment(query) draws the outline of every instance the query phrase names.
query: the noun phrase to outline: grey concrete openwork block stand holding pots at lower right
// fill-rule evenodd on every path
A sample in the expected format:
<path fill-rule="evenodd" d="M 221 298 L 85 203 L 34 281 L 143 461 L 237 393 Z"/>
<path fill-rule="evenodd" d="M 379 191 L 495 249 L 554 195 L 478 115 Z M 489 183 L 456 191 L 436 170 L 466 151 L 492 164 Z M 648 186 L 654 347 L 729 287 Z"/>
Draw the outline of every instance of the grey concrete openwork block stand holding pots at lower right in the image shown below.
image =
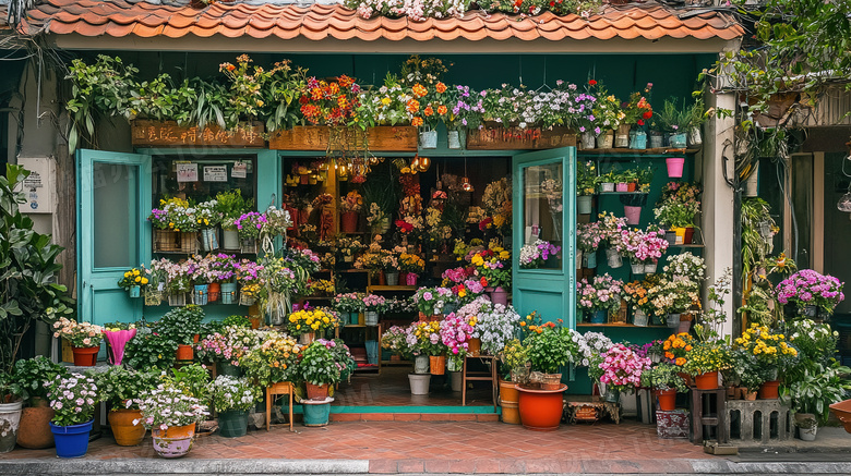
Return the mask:
<path fill-rule="evenodd" d="M 734 443 L 788 440 L 792 436 L 792 411 L 779 400 L 728 401 L 727 435 Z"/>

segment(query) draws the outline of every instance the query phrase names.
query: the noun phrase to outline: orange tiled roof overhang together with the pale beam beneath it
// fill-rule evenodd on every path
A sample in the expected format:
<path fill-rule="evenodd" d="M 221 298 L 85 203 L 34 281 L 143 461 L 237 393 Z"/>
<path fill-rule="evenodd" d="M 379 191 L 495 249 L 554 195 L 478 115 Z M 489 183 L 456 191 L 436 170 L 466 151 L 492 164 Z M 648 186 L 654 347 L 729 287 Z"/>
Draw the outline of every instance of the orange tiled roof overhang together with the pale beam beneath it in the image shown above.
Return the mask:
<path fill-rule="evenodd" d="M 46 0 L 22 26 L 68 49 L 360 53 L 718 52 L 744 33 L 731 14 L 652 2 L 607 5 L 588 19 L 474 11 L 413 22 L 362 19 L 339 4 Z"/>

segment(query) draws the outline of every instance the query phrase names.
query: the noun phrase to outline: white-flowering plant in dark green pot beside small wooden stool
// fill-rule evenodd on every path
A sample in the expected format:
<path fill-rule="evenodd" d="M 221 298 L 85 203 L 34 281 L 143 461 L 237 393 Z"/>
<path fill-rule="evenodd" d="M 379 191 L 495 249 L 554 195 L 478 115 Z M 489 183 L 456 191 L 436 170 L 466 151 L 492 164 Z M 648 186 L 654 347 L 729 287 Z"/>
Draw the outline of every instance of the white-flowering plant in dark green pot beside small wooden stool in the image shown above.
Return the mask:
<path fill-rule="evenodd" d="M 227 375 L 209 383 L 213 406 L 218 412 L 218 431 L 225 438 L 242 437 L 248 432 L 249 410 L 260 399 L 260 388 L 248 379 Z"/>

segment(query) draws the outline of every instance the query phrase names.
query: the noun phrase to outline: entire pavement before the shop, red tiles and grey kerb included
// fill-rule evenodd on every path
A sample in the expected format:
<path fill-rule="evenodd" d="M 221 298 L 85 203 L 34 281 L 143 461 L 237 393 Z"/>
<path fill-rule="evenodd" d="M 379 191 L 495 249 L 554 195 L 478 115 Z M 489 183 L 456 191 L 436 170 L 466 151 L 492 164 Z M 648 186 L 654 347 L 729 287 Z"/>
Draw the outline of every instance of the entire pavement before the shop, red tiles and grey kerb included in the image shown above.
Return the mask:
<path fill-rule="evenodd" d="M 346 422 L 324 428 L 286 426 L 251 430 L 241 438 L 197 438 L 180 460 L 158 457 L 147 436 L 139 447 L 118 447 L 105 434 L 86 456 L 58 460 L 52 449 L 15 449 L 0 455 L 0 474 L 837 474 L 851 473 L 851 435 L 819 431 L 819 440 L 739 456 L 714 456 L 686 440 L 664 440 L 656 427 L 562 425 L 558 431 L 476 422 Z M 808 457 L 787 452 L 806 449 Z M 748 454 L 759 455 L 751 457 Z M 790 462 L 783 462 L 791 460 Z M 836 461 L 842 460 L 844 462 Z"/>

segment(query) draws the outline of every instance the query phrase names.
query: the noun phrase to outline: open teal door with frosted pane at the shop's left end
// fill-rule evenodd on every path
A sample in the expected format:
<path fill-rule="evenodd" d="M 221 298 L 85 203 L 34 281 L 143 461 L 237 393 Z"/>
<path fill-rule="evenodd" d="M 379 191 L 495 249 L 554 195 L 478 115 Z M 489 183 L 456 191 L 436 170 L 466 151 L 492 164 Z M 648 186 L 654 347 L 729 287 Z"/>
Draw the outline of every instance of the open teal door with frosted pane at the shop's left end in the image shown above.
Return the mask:
<path fill-rule="evenodd" d="M 77 306 L 103 325 L 142 318 L 142 302 L 118 286 L 151 263 L 151 156 L 77 150 Z"/>

